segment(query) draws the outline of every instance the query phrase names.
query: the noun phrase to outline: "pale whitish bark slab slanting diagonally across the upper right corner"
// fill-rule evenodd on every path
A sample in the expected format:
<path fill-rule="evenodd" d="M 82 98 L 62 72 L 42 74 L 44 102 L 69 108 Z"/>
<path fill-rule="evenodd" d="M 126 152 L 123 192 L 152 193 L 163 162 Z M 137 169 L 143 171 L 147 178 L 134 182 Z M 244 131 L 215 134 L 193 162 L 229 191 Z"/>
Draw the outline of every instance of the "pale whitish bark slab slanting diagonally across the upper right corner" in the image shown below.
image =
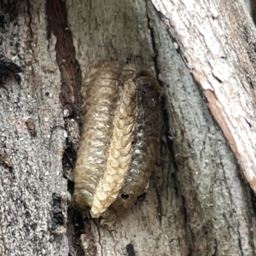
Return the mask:
<path fill-rule="evenodd" d="M 176 3 L 153 3 L 164 15 L 162 19 L 201 84 L 214 118 L 256 192 L 255 27 L 243 2 L 229 5 L 222 1 L 190 1 L 178 8 Z M 188 15 L 182 15 L 184 12 Z M 232 31 L 228 32 L 230 24 Z"/>

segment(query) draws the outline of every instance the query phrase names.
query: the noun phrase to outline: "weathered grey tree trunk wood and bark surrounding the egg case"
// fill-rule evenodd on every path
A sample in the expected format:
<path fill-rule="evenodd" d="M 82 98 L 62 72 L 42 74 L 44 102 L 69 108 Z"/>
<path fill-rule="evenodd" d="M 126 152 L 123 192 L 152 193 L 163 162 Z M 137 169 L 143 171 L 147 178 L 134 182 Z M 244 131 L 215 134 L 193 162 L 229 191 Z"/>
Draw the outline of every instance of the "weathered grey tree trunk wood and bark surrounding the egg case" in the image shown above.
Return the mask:
<path fill-rule="evenodd" d="M 0 255 L 255 254 L 253 23 L 241 1 L 185 2 L 0 2 L 0 147 L 14 165 L 0 165 Z M 164 87 L 160 165 L 112 232 L 67 211 L 62 173 L 84 74 L 102 60 Z"/>

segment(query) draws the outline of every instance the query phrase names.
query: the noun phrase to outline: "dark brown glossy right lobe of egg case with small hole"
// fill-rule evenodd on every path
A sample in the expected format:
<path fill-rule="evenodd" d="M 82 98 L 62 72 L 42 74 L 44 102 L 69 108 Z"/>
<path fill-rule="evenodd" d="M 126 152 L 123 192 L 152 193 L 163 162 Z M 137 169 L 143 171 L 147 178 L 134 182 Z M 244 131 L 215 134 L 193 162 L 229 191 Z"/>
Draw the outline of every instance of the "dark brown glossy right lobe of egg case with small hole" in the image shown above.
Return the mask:
<path fill-rule="evenodd" d="M 145 73 L 148 75 L 147 71 Z M 137 76 L 135 82 L 139 86 L 134 148 L 125 185 L 112 205 L 117 214 L 131 207 L 137 197 L 146 191 L 160 150 L 159 85 L 151 76 Z"/>

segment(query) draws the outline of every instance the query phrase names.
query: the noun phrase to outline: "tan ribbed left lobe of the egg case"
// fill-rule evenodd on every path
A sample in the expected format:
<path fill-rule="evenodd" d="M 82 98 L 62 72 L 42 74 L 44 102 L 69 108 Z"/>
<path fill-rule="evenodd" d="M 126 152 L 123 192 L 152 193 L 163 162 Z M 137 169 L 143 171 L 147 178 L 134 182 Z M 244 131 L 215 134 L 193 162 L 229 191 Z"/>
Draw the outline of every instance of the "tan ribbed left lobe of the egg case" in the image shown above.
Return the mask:
<path fill-rule="evenodd" d="M 91 207 L 96 186 L 106 169 L 113 137 L 113 115 L 119 100 L 119 62 L 90 67 L 82 96 L 83 131 L 74 168 L 73 205 L 79 211 Z"/>

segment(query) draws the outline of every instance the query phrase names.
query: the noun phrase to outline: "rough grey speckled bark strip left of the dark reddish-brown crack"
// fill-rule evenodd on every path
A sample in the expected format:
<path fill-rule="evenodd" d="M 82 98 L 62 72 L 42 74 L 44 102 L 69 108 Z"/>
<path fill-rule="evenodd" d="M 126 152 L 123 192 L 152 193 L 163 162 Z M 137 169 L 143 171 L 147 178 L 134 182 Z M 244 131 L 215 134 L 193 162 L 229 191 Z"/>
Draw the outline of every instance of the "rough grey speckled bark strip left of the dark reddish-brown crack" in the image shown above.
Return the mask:
<path fill-rule="evenodd" d="M 0 165 L 0 254 L 67 255 L 67 236 L 49 232 L 52 195 L 67 190 L 55 37 L 46 39 L 44 2 L 1 1 L 1 11 L 1 54 L 23 72 L 5 73 L 0 85 L 0 147 L 14 163 Z M 37 137 L 26 128 L 28 118 Z"/>

